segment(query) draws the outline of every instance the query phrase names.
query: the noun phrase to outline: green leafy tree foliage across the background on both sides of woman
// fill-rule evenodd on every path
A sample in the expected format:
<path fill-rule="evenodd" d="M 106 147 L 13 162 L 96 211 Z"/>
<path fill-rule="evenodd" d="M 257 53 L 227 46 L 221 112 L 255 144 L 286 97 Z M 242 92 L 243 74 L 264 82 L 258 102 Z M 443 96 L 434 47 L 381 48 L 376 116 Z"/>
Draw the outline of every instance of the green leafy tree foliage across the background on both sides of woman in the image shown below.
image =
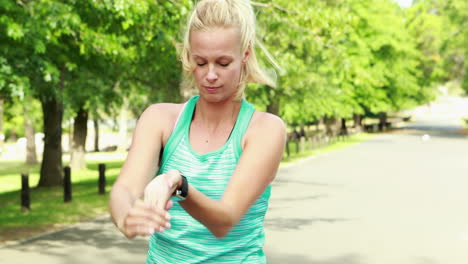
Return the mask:
<path fill-rule="evenodd" d="M 422 104 L 448 80 L 468 90 L 466 1 L 415 2 L 405 10 L 391 0 L 253 2 L 259 39 L 281 69 L 264 63 L 278 87 L 250 85 L 248 99 L 260 109 L 279 104 L 287 122 L 305 123 Z M 135 115 L 178 101 L 175 43 L 192 5 L 2 0 L 0 94 L 60 96 L 67 116 L 83 106 L 116 115 L 122 98 Z"/>

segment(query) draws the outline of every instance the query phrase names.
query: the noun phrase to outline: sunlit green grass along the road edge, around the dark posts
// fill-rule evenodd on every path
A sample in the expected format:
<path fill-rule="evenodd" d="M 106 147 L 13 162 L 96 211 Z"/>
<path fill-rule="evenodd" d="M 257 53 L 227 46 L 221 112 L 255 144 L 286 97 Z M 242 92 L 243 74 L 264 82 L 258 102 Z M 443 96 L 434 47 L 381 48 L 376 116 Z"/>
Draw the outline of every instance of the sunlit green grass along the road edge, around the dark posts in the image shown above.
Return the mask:
<path fill-rule="evenodd" d="M 280 166 L 289 165 L 311 155 L 334 151 L 364 141 L 369 134 L 356 134 L 345 141 L 336 141 L 312 151 L 296 154 L 295 143 L 290 142 L 291 156 Z M 31 210 L 20 209 L 20 174 L 27 171 L 30 186 L 39 180 L 39 165 L 26 166 L 22 161 L 0 162 L 0 243 L 31 237 L 45 231 L 63 228 L 66 225 L 92 219 L 108 212 L 109 191 L 114 183 L 125 155 L 89 153 L 87 169 L 72 172 L 73 199 L 63 202 L 63 188 L 32 188 Z M 67 158 L 65 157 L 64 165 Z M 98 195 L 98 164 L 106 164 L 106 195 Z"/>

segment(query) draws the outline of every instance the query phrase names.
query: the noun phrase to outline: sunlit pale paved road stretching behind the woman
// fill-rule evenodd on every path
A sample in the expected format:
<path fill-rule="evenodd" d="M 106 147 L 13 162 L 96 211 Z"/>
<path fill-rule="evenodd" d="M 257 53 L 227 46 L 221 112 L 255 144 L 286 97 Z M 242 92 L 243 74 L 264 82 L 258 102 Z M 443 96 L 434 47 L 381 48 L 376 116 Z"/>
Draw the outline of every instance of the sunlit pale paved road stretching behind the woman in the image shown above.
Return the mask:
<path fill-rule="evenodd" d="M 436 110 L 282 168 L 265 222 L 269 263 L 468 263 L 468 138 Z M 0 248 L 0 263 L 143 263 L 146 243 L 104 217 Z"/>

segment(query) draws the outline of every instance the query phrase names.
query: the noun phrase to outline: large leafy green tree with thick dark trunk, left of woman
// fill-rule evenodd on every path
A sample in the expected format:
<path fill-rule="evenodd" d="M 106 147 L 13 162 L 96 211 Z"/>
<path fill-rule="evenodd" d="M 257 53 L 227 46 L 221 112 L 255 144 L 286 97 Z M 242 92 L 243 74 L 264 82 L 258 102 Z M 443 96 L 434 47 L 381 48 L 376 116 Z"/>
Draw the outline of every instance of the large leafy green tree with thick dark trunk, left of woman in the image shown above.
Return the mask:
<path fill-rule="evenodd" d="M 159 89 L 167 87 L 164 84 L 178 83 L 178 68 L 161 65 L 156 59 L 164 62 L 165 58 L 175 58 L 173 39 L 166 33 L 172 34 L 179 27 L 173 22 L 182 18 L 188 5 L 188 1 L 149 0 L 2 1 L 0 11 L 5 15 L 0 19 L 0 32 L 5 34 L 0 38 L 5 49 L 1 56 L 7 58 L 15 74 L 28 79 L 44 112 L 45 151 L 40 186 L 61 183 L 61 123 L 65 107 L 78 113 L 76 123 L 80 123 L 89 108 L 113 106 L 115 101 L 118 104 L 118 96 L 141 93 L 139 87 L 143 83 L 150 90 L 158 89 L 158 95 L 169 91 Z M 168 82 L 157 83 L 159 80 Z M 118 82 L 131 89 L 114 91 Z M 85 130 L 86 125 L 81 124 L 75 129 L 73 146 L 81 153 Z M 83 157 L 73 155 L 80 156 Z"/>

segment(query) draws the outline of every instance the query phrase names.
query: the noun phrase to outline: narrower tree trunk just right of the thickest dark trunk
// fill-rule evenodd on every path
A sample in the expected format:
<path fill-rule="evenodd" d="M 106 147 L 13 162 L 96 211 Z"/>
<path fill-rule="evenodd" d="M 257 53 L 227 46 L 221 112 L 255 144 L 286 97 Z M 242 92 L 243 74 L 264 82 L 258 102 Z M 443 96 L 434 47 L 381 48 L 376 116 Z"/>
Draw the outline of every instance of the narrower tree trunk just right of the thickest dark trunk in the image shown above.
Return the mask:
<path fill-rule="evenodd" d="M 73 143 L 70 149 L 70 168 L 72 171 L 86 168 L 86 136 L 88 133 L 88 112 L 80 107 L 73 122 Z"/>

